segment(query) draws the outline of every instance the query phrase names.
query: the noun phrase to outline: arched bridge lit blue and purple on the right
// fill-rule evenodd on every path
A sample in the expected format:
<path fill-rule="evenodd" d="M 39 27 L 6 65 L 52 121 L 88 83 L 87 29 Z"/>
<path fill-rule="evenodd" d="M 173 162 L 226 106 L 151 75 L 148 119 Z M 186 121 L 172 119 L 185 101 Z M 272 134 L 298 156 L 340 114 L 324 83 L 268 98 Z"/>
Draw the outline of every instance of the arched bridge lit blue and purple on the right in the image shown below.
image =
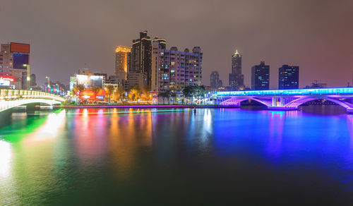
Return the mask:
<path fill-rule="evenodd" d="M 314 99 L 325 99 L 339 104 L 353 112 L 353 88 L 301 89 L 301 90 L 258 90 L 216 92 L 217 104 L 227 107 L 240 107 L 244 100 L 260 102 L 273 110 L 298 109 L 301 104 Z"/>

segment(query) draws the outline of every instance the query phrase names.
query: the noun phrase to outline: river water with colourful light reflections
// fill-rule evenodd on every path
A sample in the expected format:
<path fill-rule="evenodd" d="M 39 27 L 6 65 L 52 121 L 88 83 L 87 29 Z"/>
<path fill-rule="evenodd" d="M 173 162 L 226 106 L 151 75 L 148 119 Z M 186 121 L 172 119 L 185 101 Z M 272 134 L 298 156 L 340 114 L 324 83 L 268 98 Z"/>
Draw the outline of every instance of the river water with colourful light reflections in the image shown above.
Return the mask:
<path fill-rule="evenodd" d="M 353 116 L 338 106 L 0 115 L 0 205 L 352 201 Z"/>

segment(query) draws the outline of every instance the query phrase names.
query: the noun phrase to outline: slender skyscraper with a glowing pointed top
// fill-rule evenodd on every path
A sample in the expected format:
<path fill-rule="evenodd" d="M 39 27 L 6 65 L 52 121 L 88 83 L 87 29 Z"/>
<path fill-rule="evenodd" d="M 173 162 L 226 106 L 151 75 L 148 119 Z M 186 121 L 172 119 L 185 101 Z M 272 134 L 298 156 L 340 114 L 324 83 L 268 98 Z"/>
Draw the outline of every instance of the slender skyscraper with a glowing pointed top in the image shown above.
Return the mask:
<path fill-rule="evenodd" d="M 232 73 L 229 73 L 229 86 L 232 90 L 244 87 L 244 74 L 241 73 L 241 54 L 238 50 L 232 55 Z"/>

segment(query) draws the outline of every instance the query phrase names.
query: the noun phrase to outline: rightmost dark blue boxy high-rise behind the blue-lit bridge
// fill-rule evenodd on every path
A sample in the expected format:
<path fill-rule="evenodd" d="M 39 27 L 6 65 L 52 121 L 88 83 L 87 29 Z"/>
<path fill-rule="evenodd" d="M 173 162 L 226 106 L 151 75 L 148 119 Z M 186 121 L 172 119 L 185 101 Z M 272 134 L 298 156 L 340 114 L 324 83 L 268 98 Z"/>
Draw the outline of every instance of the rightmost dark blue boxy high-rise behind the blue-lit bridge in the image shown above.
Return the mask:
<path fill-rule="evenodd" d="M 278 89 L 297 90 L 299 88 L 299 66 L 283 65 L 279 68 Z"/>

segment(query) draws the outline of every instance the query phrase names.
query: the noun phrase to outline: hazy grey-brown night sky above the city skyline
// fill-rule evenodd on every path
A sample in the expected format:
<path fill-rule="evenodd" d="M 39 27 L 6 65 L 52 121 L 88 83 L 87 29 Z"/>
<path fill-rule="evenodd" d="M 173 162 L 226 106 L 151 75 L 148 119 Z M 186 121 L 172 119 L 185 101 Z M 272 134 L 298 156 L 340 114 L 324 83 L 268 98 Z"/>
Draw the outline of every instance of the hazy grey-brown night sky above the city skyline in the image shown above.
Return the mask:
<path fill-rule="evenodd" d="M 31 72 L 68 84 L 79 68 L 114 72 L 114 49 L 131 46 L 148 30 L 167 48 L 200 46 L 203 84 L 219 71 L 228 85 L 235 49 L 243 56 L 245 84 L 251 66 L 270 64 L 270 88 L 282 64 L 300 67 L 300 87 L 323 80 L 328 87 L 352 84 L 352 0 L 273 1 L 90 1 L 1 0 L 0 42 L 31 46 Z"/>

